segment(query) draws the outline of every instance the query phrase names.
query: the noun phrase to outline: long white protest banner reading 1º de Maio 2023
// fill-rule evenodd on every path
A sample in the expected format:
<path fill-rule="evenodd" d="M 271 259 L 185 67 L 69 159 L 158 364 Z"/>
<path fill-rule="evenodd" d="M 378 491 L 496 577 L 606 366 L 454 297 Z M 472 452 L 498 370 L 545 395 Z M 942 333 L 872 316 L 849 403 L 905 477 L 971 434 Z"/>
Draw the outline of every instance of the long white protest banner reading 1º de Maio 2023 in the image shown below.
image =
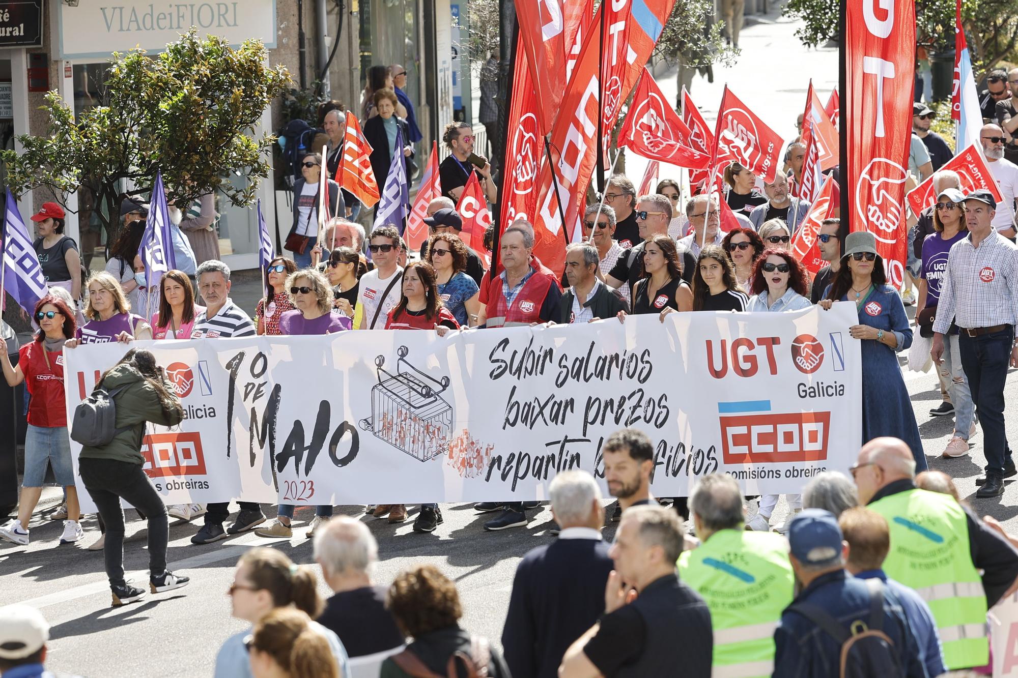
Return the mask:
<path fill-rule="evenodd" d="M 545 499 L 559 470 L 600 478 L 604 440 L 635 427 L 656 445 L 657 496 L 685 496 L 718 471 L 746 494 L 795 493 L 858 452 L 857 322 L 844 302 L 445 338 L 138 342 L 187 410 L 180 431 L 147 439 L 147 471 L 171 504 Z M 67 351 L 69 408 L 123 351 Z"/>

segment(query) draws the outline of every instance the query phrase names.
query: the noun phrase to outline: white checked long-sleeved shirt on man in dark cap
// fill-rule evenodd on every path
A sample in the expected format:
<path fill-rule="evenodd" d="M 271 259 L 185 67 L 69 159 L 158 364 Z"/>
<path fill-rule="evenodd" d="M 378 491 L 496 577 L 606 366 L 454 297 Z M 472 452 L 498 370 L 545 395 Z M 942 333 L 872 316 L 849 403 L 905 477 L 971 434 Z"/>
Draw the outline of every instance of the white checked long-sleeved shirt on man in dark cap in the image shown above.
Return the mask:
<path fill-rule="evenodd" d="M 965 329 L 1018 319 L 1018 245 L 996 230 L 978 247 L 971 235 L 951 245 L 934 332 L 947 334 L 952 319 Z"/>

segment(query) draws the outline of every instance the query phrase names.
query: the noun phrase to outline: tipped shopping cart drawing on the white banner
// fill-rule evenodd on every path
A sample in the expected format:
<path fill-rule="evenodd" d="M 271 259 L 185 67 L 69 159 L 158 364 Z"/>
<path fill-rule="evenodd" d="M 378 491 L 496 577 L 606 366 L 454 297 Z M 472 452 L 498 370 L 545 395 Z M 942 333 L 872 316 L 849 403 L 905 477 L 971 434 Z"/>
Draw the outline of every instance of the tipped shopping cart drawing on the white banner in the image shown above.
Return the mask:
<path fill-rule="evenodd" d="M 407 352 L 406 346 L 397 349 L 395 375 L 384 369 L 384 355 L 375 358 L 379 383 L 372 387 L 372 415 L 358 425 L 414 459 L 428 461 L 449 451 L 452 405 L 440 395 L 449 388 L 449 378 L 428 376 L 405 359 Z"/>

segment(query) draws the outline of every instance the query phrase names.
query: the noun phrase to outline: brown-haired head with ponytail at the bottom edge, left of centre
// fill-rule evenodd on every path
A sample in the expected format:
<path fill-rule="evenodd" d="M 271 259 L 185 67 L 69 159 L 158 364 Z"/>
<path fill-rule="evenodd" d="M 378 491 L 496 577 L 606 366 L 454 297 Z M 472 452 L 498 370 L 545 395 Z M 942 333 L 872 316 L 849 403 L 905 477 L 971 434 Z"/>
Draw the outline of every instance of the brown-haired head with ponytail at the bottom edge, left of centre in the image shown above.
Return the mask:
<path fill-rule="evenodd" d="M 342 678 L 329 641 L 299 610 L 273 610 L 244 644 L 254 678 Z"/>

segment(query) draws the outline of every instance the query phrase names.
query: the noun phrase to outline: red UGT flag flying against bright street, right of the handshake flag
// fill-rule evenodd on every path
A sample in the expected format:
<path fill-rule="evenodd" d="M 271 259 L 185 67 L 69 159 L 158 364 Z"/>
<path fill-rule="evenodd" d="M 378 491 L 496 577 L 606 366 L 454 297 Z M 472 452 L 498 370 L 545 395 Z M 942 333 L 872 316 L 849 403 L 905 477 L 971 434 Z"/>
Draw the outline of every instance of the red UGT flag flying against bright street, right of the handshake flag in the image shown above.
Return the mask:
<path fill-rule="evenodd" d="M 721 98 L 714 144 L 713 164 L 734 160 L 768 183 L 774 181 L 781 160 L 781 136 L 739 101 L 728 86 Z"/>

